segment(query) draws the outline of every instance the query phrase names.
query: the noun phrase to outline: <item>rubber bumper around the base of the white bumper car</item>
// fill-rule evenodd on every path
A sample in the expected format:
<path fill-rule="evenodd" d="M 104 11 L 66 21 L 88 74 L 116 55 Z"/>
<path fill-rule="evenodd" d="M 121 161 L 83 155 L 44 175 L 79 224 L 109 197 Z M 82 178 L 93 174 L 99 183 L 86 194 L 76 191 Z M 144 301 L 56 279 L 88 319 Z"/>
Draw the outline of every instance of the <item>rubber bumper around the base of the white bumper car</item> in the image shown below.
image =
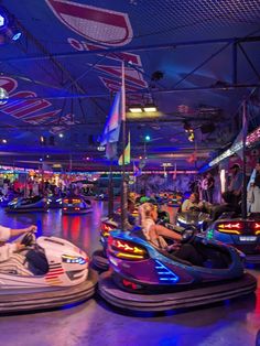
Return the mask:
<path fill-rule="evenodd" d="M 15 294 L 1 292 L 0 289 L 0 314 L 57 309 L 84 302 L 95 294 L 97 281 L 97 273 L 89 270 L 85 282 L 71 288 L 53 289 L 52 286 L 51 291 L 15 292 Z"/>

